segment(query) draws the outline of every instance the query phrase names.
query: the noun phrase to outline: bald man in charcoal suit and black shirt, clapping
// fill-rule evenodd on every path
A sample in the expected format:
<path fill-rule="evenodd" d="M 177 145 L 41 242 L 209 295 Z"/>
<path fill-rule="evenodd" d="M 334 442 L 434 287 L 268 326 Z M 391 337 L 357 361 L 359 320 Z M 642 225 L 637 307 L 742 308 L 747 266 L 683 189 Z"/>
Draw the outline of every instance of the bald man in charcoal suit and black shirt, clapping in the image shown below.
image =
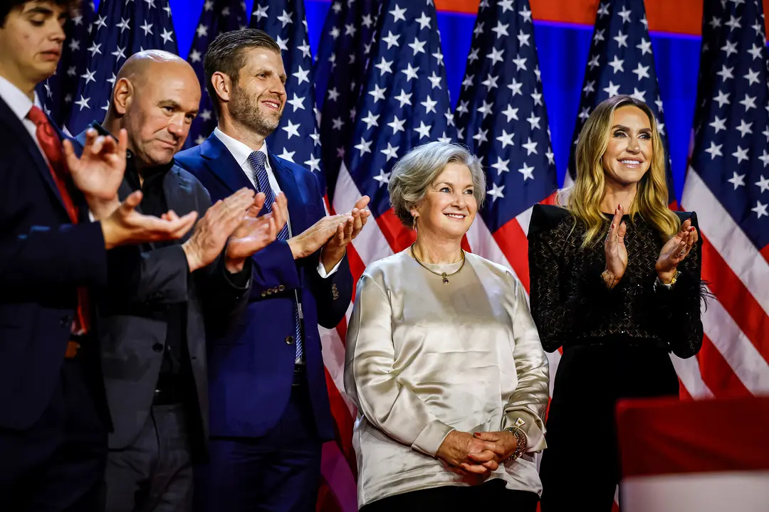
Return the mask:
<path fill-rule="evenodd" d="M 108 512 L 191 510 L 192 463 L 207 458 L 205 329 L 225 332 L 238 319 L 251 286 L 248 256 L 275 240 L 287 215 L 281 195 L 269 216 L 246 216 L 265 199 L 249 188 L 211 206 L 201 183 L 174 164 L 200 95 L 184 59 L 140 51 L 118 71 L 103 123 L 91 124 L 108 137 L 128 134 L 121 197 L 141 190 L 143 213 L 200 218 L 182 239 L 142 244 L 141 255 L 119 251 L 111 261 L 120 272 L 98 298 L 113 425 Z"/>

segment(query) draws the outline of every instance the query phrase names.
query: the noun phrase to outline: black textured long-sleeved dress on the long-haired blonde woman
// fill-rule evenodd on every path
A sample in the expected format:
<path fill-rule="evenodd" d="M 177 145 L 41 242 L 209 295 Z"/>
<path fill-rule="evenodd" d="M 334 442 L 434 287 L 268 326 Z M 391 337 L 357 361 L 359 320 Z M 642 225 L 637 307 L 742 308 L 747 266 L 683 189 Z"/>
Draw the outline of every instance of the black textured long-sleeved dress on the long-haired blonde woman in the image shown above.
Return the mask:
<path fill-rule="evenodd" d="M 698 229 L 695 213 L 678 215 Z M 674 286 L 655 287 L 663 240 L 641 216 L 623 220 L 628 268 L 608 289 L 602 239 L 581 249 L 584 226 L 558 206 L 535 205 L 531 216 L 531 314 L 544 350 L 563 347 L 540 470 L 542 512 L 611 510 L 620 479 L 616 401 L 677 395 L 669 352 L 688 358 L 702 344 L 701 240 Z M 610 215 L 605 222 L 608 230 Z"/>

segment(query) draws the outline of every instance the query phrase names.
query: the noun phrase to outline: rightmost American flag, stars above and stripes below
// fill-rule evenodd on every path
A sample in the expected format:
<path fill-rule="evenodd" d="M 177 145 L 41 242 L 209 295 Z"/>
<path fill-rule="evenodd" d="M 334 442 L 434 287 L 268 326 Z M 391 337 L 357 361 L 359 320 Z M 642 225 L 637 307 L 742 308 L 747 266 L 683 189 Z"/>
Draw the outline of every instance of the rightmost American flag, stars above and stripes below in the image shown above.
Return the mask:
<path fill-rule="evenodd" d="M 761 2 L 704 2 L 694 145 L 681 206 L 696 210 L 703 312 L 694 398 L 769 392 L 769 57 Z"/>

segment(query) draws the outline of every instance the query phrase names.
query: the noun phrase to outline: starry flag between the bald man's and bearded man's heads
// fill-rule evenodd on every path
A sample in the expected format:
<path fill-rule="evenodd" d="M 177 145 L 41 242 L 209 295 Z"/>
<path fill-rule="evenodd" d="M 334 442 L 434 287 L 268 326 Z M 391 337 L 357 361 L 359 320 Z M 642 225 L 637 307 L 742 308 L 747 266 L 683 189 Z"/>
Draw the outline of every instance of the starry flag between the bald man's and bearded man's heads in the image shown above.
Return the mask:
<path fill-rule="evenodd" d="M 245 2 L 241 0 L 205 0 L 203 12 L 198 20 L 198 28 L 195 29 L 195 38 L 187 61 L 195 69 L 200 81 L 201 97 L 200 111 L 195 121 L 192 121 L 190 134 L 185 141 L 185 147 L 203 144 L 203 141 L 214 131 L 216 127 L 216 114 L 211 98 L 208 97 L 206 88 L 205 71 L 203 71 L 203 58 L 208 45 L 221 32 L 228 32 L 246 28 L 248 23 L 245 16 Z"/>

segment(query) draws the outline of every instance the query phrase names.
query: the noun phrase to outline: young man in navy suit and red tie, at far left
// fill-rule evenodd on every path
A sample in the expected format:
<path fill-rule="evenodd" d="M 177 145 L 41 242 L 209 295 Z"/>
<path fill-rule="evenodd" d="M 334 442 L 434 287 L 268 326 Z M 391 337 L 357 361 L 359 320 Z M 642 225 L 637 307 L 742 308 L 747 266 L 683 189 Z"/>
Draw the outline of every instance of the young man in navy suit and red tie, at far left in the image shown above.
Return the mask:
<path fill-rule="evenodd" d="M 42 112 L 77 2 L 0 4 L 0 507 L 102 507 L 108 411 L 92 334 L 92 287 L 109 249 L 175 239 L 195 213 L 118 202 L 125 133 L 89 133 L 81 157 Z M 96 222 L 88 220 L 91 211 Z"/>

